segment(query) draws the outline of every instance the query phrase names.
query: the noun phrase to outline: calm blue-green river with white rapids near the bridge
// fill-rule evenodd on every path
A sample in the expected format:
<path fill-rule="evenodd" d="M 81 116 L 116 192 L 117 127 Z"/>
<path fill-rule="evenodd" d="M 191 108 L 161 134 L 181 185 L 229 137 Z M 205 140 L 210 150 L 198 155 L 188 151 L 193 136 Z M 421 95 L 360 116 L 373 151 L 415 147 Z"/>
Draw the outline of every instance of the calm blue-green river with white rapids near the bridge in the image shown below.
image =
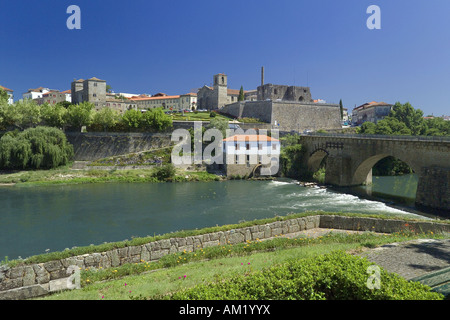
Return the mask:
<path fill-rule="evenodd" d="M 411 184 L 388 179 L 374 178 L 373 188 Z M 417 217 L 408 205 L 290 180 L 2 187 L 0 204 L 0 260 L 312 210 Z"/>

